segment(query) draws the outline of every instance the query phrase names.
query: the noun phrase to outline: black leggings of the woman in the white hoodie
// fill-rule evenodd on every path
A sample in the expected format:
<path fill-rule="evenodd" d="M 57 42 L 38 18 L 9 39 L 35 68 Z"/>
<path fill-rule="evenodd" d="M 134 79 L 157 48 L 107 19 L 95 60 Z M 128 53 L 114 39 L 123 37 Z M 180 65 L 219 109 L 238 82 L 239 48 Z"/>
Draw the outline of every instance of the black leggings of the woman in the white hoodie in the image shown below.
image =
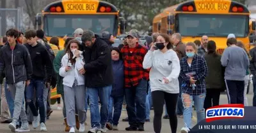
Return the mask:
<path fill-rule="evenodd" d="M 152 100 L 154 106 L 154 131 L 156 133 L 161 132 L 164 101 L 166 103 L 166 109 L 170 117 L 169 121 L 172 133 L 177 132 L 178 120 L 176 115 L 176 105 L 178 95 L 179 94 L 169 94 L 161 90 L 152 92 Z"/>

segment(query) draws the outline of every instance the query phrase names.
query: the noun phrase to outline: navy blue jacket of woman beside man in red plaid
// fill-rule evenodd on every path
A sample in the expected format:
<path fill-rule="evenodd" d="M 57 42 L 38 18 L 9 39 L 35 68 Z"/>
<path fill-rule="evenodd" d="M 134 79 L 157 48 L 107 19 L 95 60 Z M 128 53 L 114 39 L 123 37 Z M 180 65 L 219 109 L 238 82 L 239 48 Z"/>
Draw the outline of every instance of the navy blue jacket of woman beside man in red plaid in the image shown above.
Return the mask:
<path fill-rule="evenodd" d="M 124 97 L 124 62 L 123 60 L 112 61 L 113 85 L 111 97 Z"/>

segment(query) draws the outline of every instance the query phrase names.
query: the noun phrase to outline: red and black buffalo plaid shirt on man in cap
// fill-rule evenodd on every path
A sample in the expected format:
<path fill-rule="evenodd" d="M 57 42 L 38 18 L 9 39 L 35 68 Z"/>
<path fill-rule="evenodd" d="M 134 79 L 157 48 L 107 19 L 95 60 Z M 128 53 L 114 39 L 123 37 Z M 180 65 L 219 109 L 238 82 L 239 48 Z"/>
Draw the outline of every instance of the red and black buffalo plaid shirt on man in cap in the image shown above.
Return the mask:
<path fill-rule="evenodd" d="M 143 69 L 142 62 L 147 48 L 137 43 L 135 48 L 124 46 L 121 50 L 124 60 L 125 87 L 134 87 L 144 78 L 148 80 L 149 70 Z"/>

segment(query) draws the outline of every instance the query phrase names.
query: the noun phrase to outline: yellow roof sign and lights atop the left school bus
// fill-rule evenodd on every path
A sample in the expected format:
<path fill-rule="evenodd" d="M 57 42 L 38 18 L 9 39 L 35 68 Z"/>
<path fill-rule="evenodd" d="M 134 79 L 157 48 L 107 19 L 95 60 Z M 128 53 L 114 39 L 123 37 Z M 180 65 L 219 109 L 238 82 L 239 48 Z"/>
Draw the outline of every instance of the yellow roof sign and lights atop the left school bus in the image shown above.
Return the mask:
<path fill-rule="evenodd" d="M 118 13 L 116 6 L 106 1 L 98 0 L 62 0 L 45 6 L 43 12 L 51 13 Z"/>

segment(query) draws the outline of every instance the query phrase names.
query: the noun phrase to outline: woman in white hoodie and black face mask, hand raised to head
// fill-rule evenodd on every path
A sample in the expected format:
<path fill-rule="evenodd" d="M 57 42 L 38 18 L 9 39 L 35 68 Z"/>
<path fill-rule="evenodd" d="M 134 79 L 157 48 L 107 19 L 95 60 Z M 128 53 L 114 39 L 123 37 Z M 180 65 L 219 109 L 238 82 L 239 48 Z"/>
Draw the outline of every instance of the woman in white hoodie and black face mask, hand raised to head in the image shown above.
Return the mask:
<path fill-rule="evenodd" d="M 161 132 L 161 116 L 164 102 L 170 116 L 172 132 L 177 132 L 176 106 L 179 95 L 180 63 L 173 51 L 168 34 L 159 34 L 156 45 L 152 45 L 143 60 L 143 68 L 150 69 L 150 88 L 154 105 L 154 131 Z M 158 50 L 155 50 L 155 48 Z"/>

